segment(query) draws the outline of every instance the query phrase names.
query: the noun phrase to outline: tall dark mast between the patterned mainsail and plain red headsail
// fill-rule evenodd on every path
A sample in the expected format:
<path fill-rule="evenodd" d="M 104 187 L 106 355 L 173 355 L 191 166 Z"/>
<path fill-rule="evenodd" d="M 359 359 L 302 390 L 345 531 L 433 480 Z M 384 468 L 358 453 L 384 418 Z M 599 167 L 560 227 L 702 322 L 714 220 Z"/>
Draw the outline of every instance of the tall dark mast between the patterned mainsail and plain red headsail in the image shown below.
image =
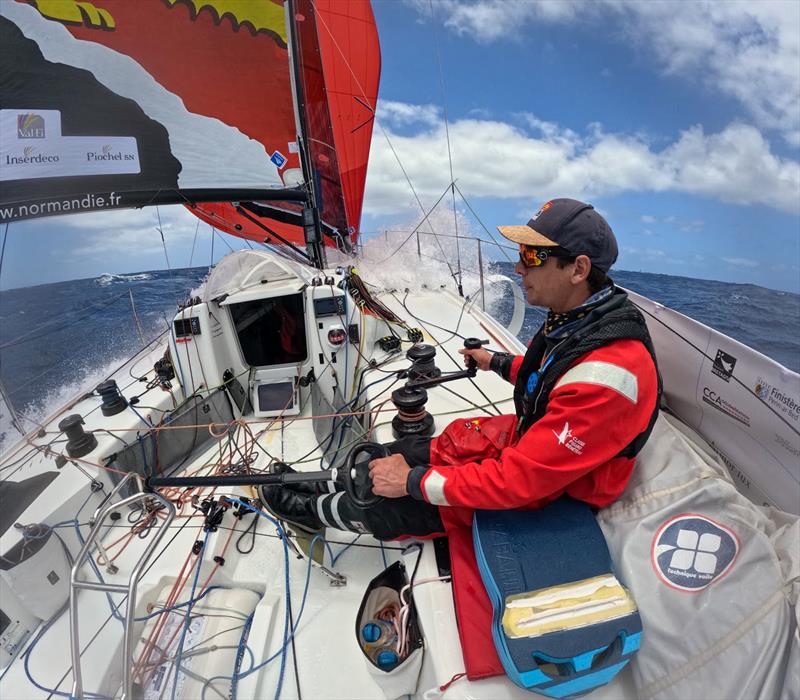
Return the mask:
<path fill-rule="evenodd" d="M 306 242 L 306 251 L 312 263 L 318 269 L 326 265 L 325 247 L 322 245 L 322 228 L 317 205 L 316 183 L 314 181 L 314 168 L 311 163 L 310 149 L 306 144 L 305 99 L 303 94 L 303 80 L 301 75 L 300 47 L 297 42 L 297 12 L 296 0 L 286 1 L 286 32 L 287 47 L 289 50 L 289 75 L 292 83 L 292 100 L 294 102 L 294 116 L 297 124 L 297 146 L 300 155 L 300 165 L 306 183 L 306 203 L 303 208 L 303 235 Z M 308 18 L 307 18 L 308 19 Z"/>

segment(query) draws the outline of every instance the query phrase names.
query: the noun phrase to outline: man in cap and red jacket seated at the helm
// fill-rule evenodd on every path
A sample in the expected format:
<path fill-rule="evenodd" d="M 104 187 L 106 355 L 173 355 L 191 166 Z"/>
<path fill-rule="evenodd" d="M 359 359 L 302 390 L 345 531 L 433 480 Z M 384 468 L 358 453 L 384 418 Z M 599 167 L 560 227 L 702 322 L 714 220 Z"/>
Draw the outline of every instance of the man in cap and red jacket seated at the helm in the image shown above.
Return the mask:
<path fill-rule="evenodd" d="M 461 350 L 514 389 L 515 416 L 459 419 L 437 438 L 406 437 L 369 464 L 379 504 L 344 491 L 262 488 L 279 517 L 379 539 L 433 536 L 475 509 L 539 508 L 563 494 L 602 508 L 623 491 L 658 413 L 661 380 L 639 310 L 607 276 L 617 242 L 591 204 L 545 203 L 519 245 L 527 301 L 548 309 L 524 356 Z"/>

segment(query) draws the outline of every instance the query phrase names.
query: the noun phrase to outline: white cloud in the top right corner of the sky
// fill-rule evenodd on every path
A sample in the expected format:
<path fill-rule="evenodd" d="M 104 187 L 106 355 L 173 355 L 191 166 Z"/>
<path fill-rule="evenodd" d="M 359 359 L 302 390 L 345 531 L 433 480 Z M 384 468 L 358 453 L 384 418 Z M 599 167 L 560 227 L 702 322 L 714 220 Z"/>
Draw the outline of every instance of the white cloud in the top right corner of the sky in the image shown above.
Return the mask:
<path fill-rule="evenodd" d="M 426 0 L 411 0 L 423 19 Z M 800 3 L 706 0 L 440 0 L 437 21 L 482 43 L 524 41 L 532 23 L 613 22 L 661 69 L 739 101 L 761 128 L 800 146 Z"/>

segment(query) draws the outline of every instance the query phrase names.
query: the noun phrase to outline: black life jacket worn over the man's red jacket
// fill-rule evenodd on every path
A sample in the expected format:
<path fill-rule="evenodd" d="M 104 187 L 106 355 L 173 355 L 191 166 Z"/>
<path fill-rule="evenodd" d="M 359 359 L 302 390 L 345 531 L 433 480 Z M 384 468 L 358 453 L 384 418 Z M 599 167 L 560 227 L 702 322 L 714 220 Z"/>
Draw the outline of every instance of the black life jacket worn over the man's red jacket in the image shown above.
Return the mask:
<path fill-rule="evenodd" d="M 617 455 L 635 457 L 647 442 L 658 417 L 662 383 L 653 342 L 644 317 L 621 289 L 615 289 L 606 302 L 592 309 L 583 319 L 580 328 L 559 341 L 546 359 L 545 353 L 549 341 L 545 337 L 544 326 L 534 336 L 522 360 L 514 385 L 518 435 L 525 433 L 545 414 L 550 392 L 576 360 L 615 340 L 625 339 L 642 342 L 653 358 L 658 376 L 658 395 L 647 427 Z"/>

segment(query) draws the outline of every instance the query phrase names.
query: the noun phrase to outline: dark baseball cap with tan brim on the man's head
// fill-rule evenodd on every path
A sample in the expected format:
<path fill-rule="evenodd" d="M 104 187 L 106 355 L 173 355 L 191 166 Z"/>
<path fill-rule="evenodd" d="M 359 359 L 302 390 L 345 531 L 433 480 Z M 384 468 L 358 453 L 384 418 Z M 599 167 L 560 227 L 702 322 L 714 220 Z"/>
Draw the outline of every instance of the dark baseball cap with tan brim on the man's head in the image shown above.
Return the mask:
<path fill-rule="evenodd" d="M 560 246 L 571 255 L 586 255 L 608 272 L 617 260 L 617 239 L 591 204 L 577 199 L 545 202 L 525 226 L 498 226 L 508 240 L 530 246 Z"/>

